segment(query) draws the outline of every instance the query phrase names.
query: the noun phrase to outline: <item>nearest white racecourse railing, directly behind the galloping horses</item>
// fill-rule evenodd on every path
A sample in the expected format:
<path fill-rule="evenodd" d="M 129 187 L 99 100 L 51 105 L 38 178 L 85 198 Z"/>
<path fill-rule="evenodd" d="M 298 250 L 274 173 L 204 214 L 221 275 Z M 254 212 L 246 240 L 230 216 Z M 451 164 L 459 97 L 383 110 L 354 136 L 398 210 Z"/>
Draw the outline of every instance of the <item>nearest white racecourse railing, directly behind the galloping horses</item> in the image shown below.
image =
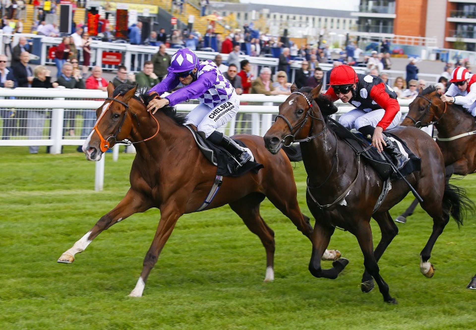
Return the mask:
<path fill-rule="evenodd" d="M 58 154 L 64 145 L 84 143 L 96 121 L 95 110 L 107 97 L 100 90 L 16 88 L 0 89 L 0 146 L 50 146 L 50 153 Z M 221 130 L 228 135 L 254 134 L 263 136 L 278 113 L 278 105 L 286 95 L 239 96 L 240 109 L 236 117 Z M 408 112 L 411 100 L 398 100 L 403 113 Z M 177 105 L 178 112 L 189 112 L 197 101 Z M 336 117 L 353 109 L 337 102 Z M 430 130 L 431 131 L 431 130 Z M 133 150 L 131 146 L 129 150 Z M 119 148 L 114 148 L 117 160 Z M 104 157 L 103 157 L 104 160 Z M 104 161 L 97 165 L 96 190 L 102 190 Z"/>

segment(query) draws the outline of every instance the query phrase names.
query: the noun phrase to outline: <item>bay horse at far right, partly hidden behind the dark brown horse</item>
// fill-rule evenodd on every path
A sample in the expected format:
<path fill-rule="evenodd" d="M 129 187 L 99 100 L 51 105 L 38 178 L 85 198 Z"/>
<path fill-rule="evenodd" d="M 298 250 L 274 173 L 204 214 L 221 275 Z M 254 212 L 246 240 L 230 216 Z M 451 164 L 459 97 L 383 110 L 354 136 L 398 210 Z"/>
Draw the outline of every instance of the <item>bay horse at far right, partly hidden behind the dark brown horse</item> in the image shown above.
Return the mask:
<path fill-rule="evenodd" d="M 426 127 L 434 124 L 438 130 L 436 144 L 443 153 L 446 178 L 476 172 L 476 120 L 463 107 L 440 100 L 434 86 L 420 89 L 408 106 L 402 126 Z M 406 222 L 418 205 L 415 200 L 397 221 Z"/>

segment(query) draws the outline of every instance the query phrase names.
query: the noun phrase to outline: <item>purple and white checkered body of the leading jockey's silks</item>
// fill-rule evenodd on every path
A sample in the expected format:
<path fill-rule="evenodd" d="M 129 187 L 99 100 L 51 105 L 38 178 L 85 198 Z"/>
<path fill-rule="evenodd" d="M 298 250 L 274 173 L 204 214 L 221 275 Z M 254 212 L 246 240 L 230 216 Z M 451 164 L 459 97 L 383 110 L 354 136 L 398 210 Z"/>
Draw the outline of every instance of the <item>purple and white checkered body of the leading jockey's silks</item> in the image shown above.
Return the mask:
<path fill-rule="evenodd" d="M 228 79 L 223 76 L 220 70 L 218 70 L 217 65 L 210 60 L 200 62 L 197 76 L 200 76 L 202 73 L 208 71 L 217 73 L 217 80 L 215 81 L 213 87 L 203 93 L 203 95 L 200 96 L 198 100 L 200 103 L 204 103 L 210 107 L 210 109 L 213 109 L 218 106 L 218 104 L 228 101 L 235 89 L 233 86 L 231 86 Z"/>

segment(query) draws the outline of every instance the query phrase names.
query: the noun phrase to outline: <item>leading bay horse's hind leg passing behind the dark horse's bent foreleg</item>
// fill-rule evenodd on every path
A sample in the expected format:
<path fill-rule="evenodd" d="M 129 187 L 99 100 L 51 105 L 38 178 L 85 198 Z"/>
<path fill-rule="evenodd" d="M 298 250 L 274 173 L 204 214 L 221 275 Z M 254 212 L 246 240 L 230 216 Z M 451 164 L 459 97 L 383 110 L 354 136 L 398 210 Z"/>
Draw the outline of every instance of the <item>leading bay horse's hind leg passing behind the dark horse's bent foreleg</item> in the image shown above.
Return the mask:
<path fill-rule="evenodd" d="M 273 190 L 267 193 L 268 200 L 287 216 L 304 236 L 312 242 L 312 226 L 309 217 L 302 214 L 297 202 L 296 190 Z M 342 254 L 339 250 L 325 250 L 321 260 L 337 260 Z"/>

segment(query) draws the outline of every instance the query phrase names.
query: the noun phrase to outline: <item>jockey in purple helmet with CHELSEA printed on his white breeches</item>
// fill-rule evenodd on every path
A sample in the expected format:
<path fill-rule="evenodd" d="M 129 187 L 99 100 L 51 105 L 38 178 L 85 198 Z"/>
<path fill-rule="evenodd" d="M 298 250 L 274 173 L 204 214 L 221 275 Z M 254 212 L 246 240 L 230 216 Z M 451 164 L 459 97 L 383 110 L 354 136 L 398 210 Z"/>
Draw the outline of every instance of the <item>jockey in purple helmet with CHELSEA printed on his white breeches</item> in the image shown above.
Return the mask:
<path fill-rule="evenodd" d="M 182 83 L 183 88 L 163 99 L 149 102 L 147 110 L 154 114 L 158 109 L 190 99 L 200 104 L 187 115 L 185 125 L 193 124 L 212 143 L 222 146 L 238 162 L 238 167 L 251 159 L 251 155 L 228 136 L 216 129 L 231 120 L 239 109 L 239 100 L 231 83 L 218 70 L 215 63 L 200 62 L 198 56 L 188 48 L 178 50 L 171 59 L 169 73 L 159 84 L 149 90 L 161 95 Z"/>

